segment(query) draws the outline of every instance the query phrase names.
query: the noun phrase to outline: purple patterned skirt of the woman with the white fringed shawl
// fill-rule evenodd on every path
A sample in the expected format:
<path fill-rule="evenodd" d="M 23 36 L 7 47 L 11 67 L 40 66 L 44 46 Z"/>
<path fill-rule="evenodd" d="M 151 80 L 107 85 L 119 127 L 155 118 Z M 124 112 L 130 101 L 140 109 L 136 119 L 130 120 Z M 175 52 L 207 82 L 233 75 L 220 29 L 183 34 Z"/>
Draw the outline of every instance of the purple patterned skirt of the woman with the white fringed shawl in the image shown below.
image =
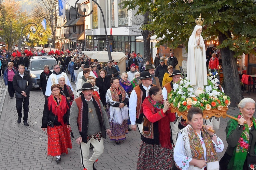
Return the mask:
<path fill-rule="evenodd" d="M 106 112 L 108 114 L 108 118 L 110 118 L 110 107 L 109 105 L 106 105 Z M 112 132 L 110 136 L 110 140 L 122 140 L 125 139 L 125 134 L 128 134 L 128 124 L 127 120 L 125 120 L 122 125 L 118 125 L 116 123 L 113 123 L 112 121 L 109 122 L 110 130 Z"/>

